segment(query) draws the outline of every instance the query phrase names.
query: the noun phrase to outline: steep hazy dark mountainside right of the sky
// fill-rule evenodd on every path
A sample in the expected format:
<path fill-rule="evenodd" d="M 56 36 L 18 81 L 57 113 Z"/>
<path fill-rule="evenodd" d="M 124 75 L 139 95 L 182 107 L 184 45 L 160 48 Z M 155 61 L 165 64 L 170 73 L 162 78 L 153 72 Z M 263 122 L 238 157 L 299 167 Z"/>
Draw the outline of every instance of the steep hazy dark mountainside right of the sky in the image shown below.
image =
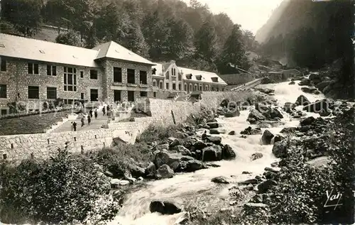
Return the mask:
<path fill-rule="evenodd" d="M 261 53 L 288 65 L 318 70 L 338 60 L 341 91 L 354 93 L 354 6 L 344 1 L 283 1 L 260 31 Z M 266 32 L 268 31 L 268 32 Z M 339 65 L 339 63 L 337 64 Z M 343 89 L 345 87 L 345 89 Z"/>

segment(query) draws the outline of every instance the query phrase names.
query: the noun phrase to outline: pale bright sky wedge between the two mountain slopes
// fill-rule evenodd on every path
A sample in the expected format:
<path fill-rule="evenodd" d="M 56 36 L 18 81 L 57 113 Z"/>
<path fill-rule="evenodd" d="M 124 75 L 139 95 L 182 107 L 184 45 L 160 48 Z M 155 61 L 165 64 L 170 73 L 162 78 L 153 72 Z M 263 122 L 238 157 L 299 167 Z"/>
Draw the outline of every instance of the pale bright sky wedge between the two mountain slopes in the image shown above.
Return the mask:
<path fill-rule="evenodd" d="M 187 4 L 190 0 L 184 0 Z M 254 34 L 263 26 L 283 0 L 198 0 L 212 13 L 226 13 L 234 23 Z"/>

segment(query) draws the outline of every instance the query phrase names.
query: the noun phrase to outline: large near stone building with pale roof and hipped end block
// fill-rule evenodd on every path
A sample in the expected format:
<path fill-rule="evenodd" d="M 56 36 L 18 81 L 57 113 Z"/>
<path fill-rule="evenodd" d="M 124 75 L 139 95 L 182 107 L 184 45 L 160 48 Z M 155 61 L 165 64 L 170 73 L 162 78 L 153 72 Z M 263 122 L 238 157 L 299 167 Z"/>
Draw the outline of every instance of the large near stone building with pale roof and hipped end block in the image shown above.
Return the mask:
<path fill-rule="evenodd" d="M 153 97 L 153 62 L 109 42 L 93 49 L 0 33 L 0 112 L 7 103 L 134 101 Z M 31 109 L 31 106 L 30 106 Z"/>

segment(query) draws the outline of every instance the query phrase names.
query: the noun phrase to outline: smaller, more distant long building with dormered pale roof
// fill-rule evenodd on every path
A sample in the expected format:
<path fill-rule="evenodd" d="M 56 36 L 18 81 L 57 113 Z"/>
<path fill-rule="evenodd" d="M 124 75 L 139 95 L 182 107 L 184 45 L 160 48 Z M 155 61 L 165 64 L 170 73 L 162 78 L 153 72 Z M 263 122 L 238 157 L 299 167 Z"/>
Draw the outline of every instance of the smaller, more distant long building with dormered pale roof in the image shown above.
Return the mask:
<path fill-rule="evenodd" d="M 226 82 L 214 72 L 178 67 L 175 61 L 155 63 L 152 69 L 154 96 L 194 91 L 223 92 Z"/>

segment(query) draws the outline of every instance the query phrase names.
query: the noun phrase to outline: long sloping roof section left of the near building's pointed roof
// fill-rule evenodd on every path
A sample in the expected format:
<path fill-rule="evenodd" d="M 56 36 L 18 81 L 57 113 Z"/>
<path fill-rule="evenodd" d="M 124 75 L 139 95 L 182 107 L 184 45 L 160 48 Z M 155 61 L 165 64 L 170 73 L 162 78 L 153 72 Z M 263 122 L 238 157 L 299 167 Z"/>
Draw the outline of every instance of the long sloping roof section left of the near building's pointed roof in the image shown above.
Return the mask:
<path fill-rule="evenodd" d="M 80 65 L 84 67 L 98 67 L 97 63 L 94 62 L 97 50 L 4 33 L 0 33 L 0 45 L 0 55 L 7 57 L 56 62 L 67 65 Z"/>

